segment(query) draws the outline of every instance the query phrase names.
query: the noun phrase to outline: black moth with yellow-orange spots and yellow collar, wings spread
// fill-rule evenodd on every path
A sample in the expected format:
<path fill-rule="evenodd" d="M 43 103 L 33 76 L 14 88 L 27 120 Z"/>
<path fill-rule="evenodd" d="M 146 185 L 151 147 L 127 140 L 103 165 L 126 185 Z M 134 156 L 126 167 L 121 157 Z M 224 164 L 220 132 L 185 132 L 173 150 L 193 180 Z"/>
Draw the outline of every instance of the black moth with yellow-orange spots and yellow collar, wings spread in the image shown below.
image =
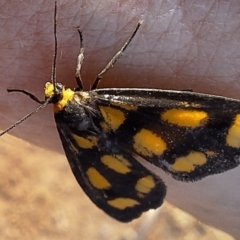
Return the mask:
<path fill-rule="evenodd" d="M 54 19 L 56 28 L 56 9 Z M 97 89 L 141 23 L 89 91 L 82 91 L 82 45 L 76 89 L 56 83 L 55 56 L 45 101 L 24 90 L 9 90 L 23 92 L 41 105 L 0 134 L 52 103 L 59 136 L 79 185 L 99 208 L 123 222 L 161 206 L 166 194 L 161 178 L 140 160 L 181 181 L 196 181 L 240 163 L 239 100 L 192 91 Z"/>

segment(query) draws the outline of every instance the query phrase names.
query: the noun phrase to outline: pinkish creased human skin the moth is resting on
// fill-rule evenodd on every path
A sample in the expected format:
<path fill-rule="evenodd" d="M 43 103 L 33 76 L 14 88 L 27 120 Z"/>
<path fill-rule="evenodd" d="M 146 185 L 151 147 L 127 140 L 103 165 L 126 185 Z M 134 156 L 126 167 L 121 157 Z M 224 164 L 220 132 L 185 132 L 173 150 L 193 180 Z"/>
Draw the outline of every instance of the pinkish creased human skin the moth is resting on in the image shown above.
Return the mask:
<path fill-rule="evenodd" d="M 53 55 L 53 3 L 3 1 L 1 15 L 0 128 L 36 108 L 37 104 L 7 88 L 25 89 L 44 98 Z M 100 87 L 193 89 L 239 99 L 239 2 L 230 1 L 72 1 L 58 3 L 57 80 L 75 87 L 74 73 L 80 26 L 85 46 L 84 88 L 122 46 L 139 19 L 144 20 L 124 56 Z M 62 151 L 51 106 L 9 134 L 40 148 Z M 37 137 L 36 137 L 37 136 Z M 4 141 L 2 137 L 1 140 Z M 3 149 L 0 141 L 0 149 Z M 54 153 L 53 153 L 54 155 Z M 54 156 L 52 157 L 54 158 Z M 7 161 L 11 161 L 8 159 Z M 234 237 L 240 236 L 240 170 L 196 183 L 179 183 L 161 173 L 167 200 Z M 231 217 L 230 217 L 231 216 Z"/>

